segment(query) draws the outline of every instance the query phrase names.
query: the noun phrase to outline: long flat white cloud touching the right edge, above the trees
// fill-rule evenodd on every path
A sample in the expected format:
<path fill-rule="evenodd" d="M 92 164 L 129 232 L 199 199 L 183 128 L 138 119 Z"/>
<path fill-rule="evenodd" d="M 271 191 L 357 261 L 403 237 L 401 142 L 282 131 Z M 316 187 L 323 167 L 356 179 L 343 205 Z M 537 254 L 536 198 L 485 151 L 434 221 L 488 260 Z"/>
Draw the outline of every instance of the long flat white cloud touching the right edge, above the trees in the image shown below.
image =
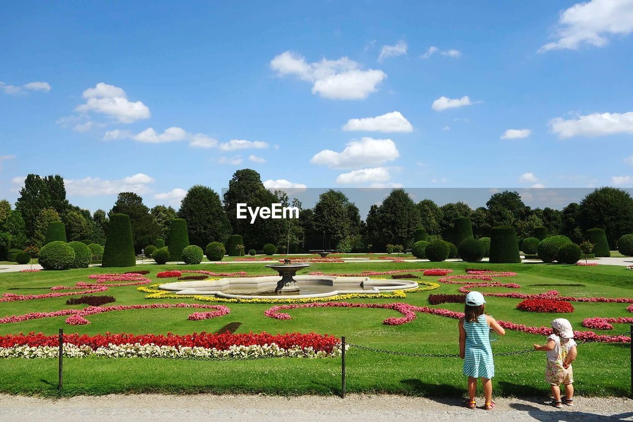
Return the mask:
<path fill-rule="evenodd" d="M 561 117 L 549 120 L 549 129 L 560 138 L 572 136 L 607 136 L 633 133 L 633 112 L 592 113 L 573 120 Z"/>

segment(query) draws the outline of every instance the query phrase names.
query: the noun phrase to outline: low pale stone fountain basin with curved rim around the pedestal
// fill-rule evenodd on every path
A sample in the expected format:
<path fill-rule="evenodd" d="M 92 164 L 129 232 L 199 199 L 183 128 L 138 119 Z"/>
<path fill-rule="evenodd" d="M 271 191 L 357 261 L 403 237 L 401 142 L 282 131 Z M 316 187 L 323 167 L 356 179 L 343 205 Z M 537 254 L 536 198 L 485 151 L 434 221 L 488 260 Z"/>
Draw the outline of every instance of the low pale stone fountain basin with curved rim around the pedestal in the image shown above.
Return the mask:
<path fill-rule="evenodd" d="M 254 292 L 274 290 L 279 276 L 251 277 L 251 278 L 222 278 L 218 280 L 179 281 L 160 285 L 162 290 L 172 291 L 177 295 L 204 295 L 224 298 L 310 298 L 330 297 L 348 293 L 378 294 L 383 291 L 409 290 L 418 287 L 418 283 L 411 280 L 371 279 L 368 277 L 337 277 L 337 276 L 294 276 L 299 288 L 310 292 L 322 290 L 319 293 L 296 293 L 279 295 L 258 295 Z M 249 293 L 229 293 L 231 290 L 246 290 Z"/>

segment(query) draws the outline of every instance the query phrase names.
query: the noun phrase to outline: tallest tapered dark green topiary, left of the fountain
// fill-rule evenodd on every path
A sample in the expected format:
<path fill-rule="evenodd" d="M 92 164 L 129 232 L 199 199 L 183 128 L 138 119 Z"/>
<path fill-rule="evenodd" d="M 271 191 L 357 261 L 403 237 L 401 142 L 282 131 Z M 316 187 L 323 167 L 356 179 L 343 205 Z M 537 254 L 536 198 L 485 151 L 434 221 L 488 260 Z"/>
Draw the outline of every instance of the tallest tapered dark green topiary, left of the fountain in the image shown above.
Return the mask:
<path fill-rule="evenodd" d="M 127 214 L 110 215 L 106 246 L 103 250 L 102 267 L 134 267 L 136 255 L 132 241 L 130 217 Z"/>

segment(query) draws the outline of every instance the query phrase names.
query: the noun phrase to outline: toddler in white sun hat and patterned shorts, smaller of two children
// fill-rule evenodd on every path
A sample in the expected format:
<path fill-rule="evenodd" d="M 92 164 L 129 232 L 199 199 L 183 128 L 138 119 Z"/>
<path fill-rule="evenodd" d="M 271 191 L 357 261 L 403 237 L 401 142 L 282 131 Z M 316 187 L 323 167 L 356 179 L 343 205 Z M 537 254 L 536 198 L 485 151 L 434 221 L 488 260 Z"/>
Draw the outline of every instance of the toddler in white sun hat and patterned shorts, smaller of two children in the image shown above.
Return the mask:
<path fill-rule="evenodd" d="M 556 318 L 551 323 L 552 334 L 545 345 L 534 345 L 534 350 L 547 352 L 548 362 L 545 366 L 545 380 L 552 388 L 553 405 L 563 407 L 560 399 L 560 385 L 565 385 L 565 404 L 573 406 L 573 370 L 578 351 L 573 340 L 572 324 L 565 318 Z"/>

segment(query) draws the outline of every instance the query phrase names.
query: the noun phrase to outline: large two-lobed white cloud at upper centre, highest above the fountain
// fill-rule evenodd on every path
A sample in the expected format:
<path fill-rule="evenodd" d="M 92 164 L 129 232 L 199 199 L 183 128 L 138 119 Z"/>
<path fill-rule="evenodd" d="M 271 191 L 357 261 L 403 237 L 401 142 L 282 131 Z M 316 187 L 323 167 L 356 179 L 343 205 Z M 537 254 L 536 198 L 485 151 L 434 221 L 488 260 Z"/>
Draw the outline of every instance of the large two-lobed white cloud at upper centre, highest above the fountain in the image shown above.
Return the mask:
<path fill-rule="evenodd" d="M 358 63 L 347 57 L 307 63 L 303 56 L 291 51 L 275 56 L 270 68 L 280 76 L 296 75 L 311 82 L 313 94 L 329 99 L 365 99 L 387 77 L 382 70 L 361 70 Z"/>

